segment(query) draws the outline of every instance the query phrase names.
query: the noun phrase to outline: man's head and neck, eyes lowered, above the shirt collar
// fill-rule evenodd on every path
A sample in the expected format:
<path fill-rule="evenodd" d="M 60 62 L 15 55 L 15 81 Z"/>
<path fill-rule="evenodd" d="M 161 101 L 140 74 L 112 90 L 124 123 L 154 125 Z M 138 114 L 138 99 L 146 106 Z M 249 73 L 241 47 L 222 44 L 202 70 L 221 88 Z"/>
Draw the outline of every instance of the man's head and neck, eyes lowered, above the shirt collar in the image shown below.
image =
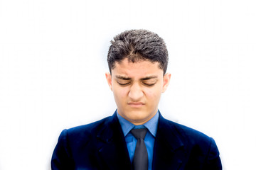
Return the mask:
<path fill-rule="evenodd" d="M 164 40 L 147 30 L 124 31 L 112 41 L 107 61 L 107 83 L 119 115 L 134 125 L 146 123 L 156 114 L 171 77 L 165 74 L 168 54 Z"/>

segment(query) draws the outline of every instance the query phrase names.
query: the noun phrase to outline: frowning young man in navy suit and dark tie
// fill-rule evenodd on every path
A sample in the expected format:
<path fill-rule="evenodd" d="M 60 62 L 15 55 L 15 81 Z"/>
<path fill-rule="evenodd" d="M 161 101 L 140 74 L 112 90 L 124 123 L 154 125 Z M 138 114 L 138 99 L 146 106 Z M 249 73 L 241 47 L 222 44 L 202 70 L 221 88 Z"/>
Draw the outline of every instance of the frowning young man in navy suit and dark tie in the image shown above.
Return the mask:
<path fill-rule="evenodd" d="M 211 137 L 166 120 L 158 110 L 168 52 L 162 38 L 127 30 L 111 41 L 107 83 L 114 115 L 61 132 L 52 169 L 222 169 Z"/>

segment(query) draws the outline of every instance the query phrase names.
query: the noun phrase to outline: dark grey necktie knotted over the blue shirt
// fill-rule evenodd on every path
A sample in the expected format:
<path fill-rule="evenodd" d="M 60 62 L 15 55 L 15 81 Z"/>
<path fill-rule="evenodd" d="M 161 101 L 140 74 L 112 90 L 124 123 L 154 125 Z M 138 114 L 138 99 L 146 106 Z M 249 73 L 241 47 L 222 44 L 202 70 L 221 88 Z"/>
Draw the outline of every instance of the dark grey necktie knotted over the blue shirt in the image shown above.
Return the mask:
<path fill-rule="evenodd" d="M 134 152 L 133 166 L 134 170 L 148 170 L 148 155 L 144 138 L 146 128 L 131 130 L 132 135 L 137 138 L 137 145 Z"/>

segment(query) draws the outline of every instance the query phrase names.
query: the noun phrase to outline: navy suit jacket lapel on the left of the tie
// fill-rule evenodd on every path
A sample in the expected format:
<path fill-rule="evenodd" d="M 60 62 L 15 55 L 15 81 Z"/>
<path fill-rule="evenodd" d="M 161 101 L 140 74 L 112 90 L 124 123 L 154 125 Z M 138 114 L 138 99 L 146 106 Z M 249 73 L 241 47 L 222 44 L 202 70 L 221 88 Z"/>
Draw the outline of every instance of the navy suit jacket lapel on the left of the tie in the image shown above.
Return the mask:
<path fill-rule="evenodd" d="M 97 135 L 97 150 L 102 169 L 131 169 L 131 162 L 117 113 Z"/>

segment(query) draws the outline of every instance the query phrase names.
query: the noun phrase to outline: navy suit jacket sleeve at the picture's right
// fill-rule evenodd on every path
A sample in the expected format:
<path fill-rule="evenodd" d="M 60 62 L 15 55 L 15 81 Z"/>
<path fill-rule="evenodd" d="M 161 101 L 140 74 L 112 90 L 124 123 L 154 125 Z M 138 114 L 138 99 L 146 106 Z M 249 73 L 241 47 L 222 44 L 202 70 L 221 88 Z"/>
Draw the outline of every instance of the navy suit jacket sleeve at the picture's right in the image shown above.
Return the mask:
<path fill-rule="evenodd" d="M 222 169 L 218 147 L 215 141 L 213 140 L 213 138 L 211 137 L 210 137 L 210 148 L 208 151 L 206 164 L 203 169 L 205 170 L 221 170 Z"/>

